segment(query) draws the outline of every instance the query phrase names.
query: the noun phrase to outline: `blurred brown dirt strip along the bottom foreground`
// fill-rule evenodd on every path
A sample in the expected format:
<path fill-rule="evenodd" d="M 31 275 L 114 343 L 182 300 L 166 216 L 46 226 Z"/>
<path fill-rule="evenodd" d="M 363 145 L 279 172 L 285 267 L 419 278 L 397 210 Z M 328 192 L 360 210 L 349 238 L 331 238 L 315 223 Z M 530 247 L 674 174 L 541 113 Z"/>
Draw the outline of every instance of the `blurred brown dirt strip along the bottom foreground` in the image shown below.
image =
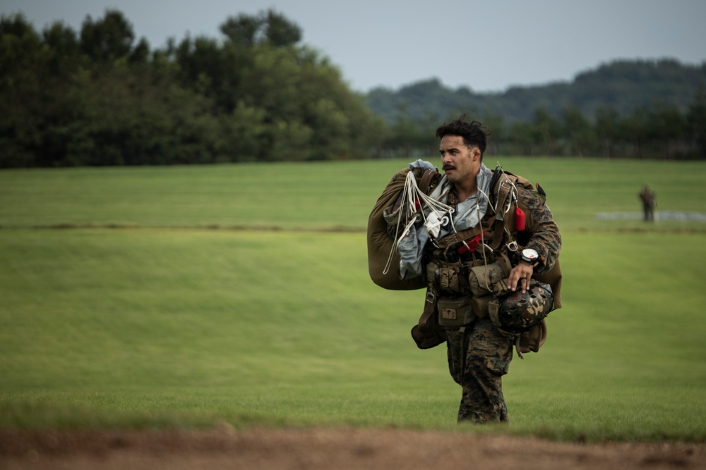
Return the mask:
<path fill-rule="evenodd" d="M 0 469 L 706 469 L 706 444 L 366 429 L 1 431 Z"/>

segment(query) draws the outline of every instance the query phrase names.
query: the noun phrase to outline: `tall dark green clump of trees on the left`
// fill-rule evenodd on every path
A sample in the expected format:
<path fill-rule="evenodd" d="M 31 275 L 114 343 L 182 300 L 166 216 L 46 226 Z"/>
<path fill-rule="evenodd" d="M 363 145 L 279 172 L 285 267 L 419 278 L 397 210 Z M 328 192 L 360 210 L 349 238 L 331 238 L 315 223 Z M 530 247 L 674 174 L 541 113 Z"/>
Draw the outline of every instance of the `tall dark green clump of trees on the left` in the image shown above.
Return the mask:
<path fill-rule="evenodd" d="M 136 39 L 123 13 L 80 32 L 0 18 L 0 166 L 366 158 L 385 124 L 276 11 L 223 38 Z"/>

